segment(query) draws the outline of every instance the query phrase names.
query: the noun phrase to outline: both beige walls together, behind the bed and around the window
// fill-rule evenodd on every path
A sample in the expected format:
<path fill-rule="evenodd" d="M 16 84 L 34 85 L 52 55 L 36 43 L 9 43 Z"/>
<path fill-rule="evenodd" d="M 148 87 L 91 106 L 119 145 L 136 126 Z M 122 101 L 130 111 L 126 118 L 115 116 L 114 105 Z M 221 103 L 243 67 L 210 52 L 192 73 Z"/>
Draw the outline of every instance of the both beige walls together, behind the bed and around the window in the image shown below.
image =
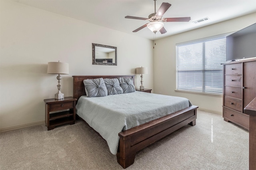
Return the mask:
<path fill-rule="evenodd" d="M 222 96 L 175 91 L 175 45 L 240 30 L 254 24 L 255 18 L 256 13 L 156 40 L 153 50 L 151 40 L 1 0 L 0 130 L 44 121 L 43 100 L 54 97 L 58 83 L 56 75 L 46 74 L 47 63 L 58 60 L 70 67 L 70 74 L 61 80 L 66 97 L 73 95 L 72 75 L 129 75 L 144 66 L 148 67 L 145 88 L 222 112 Z M 92 65 L 92 43 L 116 46 L 118 65 Z M 140 75 L 135 86 L 140 86 Z"/>

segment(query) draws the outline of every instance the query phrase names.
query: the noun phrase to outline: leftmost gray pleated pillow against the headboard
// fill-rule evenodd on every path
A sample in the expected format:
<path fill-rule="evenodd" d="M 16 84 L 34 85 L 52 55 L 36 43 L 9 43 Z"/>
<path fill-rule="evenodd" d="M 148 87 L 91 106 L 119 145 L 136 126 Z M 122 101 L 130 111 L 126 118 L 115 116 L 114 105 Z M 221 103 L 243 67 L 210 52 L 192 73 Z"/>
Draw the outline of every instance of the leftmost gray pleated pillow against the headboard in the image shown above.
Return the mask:
<path fill-rule="evenodd" d="M 104 97 L 108 95 L 107 87 L 102 78 L 83 81 L 87 97 Z"/>

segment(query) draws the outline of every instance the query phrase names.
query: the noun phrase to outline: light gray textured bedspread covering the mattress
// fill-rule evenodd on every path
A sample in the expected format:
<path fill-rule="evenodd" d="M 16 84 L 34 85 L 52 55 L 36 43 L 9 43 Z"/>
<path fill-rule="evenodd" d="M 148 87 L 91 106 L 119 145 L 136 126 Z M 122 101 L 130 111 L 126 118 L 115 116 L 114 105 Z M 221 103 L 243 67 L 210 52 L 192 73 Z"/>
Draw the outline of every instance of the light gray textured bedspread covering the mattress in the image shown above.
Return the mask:
<path fill-rule="evenodd" d="M 191 103 L 183 97 L 135 91 L 106 97 L 82 96 L 76 114 L 94 128 L 117 153 L 118 133 L 170 113 L 185 109 Z"/>

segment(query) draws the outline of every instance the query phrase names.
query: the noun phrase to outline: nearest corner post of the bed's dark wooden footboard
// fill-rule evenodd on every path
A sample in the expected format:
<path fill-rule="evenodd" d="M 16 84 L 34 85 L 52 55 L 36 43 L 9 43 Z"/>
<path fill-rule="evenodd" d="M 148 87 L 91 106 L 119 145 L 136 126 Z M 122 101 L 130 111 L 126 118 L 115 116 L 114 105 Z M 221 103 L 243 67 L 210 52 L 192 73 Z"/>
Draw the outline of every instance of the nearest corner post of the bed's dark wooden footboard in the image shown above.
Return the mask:
<path fill-rule="evenodd" d="M 119 136 L 119 147 L 116 158 L 118 164 L 120 164 L 123 168 L 127 168 L 134 163 L 136 152 L 130 147 L 130 137 L 122 136 L 120 133 Z"/>

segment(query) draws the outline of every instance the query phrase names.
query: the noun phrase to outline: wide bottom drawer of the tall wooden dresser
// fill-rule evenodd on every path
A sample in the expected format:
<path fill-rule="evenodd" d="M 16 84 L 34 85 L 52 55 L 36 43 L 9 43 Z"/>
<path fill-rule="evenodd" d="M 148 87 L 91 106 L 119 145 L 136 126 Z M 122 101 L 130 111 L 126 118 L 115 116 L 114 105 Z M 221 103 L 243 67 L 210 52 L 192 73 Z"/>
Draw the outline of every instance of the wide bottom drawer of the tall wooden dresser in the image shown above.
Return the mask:
<path fill-rule="evenodd" d="M 227 118 L 233 123 L 249 129 L 249 116 L 244 113 L 223 107 L 223 117 Z"/>

